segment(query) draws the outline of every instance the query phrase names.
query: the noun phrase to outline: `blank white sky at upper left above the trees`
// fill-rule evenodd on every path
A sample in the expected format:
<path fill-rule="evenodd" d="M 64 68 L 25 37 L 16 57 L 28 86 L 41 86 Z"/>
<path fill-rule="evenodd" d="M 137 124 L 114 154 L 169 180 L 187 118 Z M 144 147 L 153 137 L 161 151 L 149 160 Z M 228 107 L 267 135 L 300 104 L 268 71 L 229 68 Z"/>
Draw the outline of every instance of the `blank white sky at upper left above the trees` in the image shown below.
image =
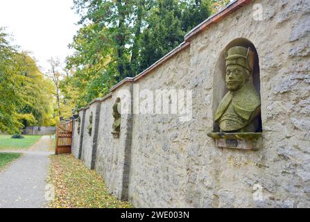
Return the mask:
<path fill-rule="evenodd" d="M 31 51 L 42 71 L 51 56 L 64 61 L 78 31 L 72 0 L 0 0 L 0 26 L 13 35 L 21 50 Z"/>

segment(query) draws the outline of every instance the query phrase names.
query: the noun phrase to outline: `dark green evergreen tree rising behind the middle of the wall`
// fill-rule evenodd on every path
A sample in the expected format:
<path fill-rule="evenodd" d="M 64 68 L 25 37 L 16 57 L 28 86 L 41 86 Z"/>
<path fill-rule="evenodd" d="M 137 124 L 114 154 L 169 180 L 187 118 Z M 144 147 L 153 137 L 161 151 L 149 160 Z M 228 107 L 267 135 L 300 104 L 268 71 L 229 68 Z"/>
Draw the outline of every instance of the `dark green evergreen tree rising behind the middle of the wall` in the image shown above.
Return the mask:
<path fill-rule="evenodd" d="M 181 17 L 182 4 L 177 0 L 158 0 L 149 10 L 138 71 L 152 65 L 184 40 Z"/>

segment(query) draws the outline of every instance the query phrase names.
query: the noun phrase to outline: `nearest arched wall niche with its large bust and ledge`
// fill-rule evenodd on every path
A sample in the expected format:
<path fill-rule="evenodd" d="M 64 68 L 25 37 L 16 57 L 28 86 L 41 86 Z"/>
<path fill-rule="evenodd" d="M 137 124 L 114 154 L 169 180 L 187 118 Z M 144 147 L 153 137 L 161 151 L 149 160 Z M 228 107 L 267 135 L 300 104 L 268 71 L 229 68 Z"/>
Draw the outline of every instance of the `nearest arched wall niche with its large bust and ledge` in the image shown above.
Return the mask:
<path fill-rule="evenodd" d="M 241 46 L 242 48 L 235 46 Z M 227 67 L 226 62 L 228 62 Z M 240 71 L 238 71 L 238 69 L 240 69 Z M 238 87 L 233 90 L 233 85 L 236 85 L 237 83 L 229 83 L 226 85 L 226 73 L 227 76 L 229 76 L 230 73 L 233 74 L 230 78 L 238 75 L 248 76 L 248 74 L 251 73 L 249 78 L 244 78 L 248 78 L 248 81 L 243 80 L 244 85 L 240 84 L 246 86 L 247 88 Z M 235 77 L 231 81 L 241 80 L 242 78 L 243 77 Z M 230 87 L 229 93 L 227 93 L 227 87 Z M 246 141 L 247 138 L 251 140 L 253 137 L 255 137 L 255 139 L 261 137 L 260 88 L 259 56 L 255 45 L 246 38 L 237 38 L 232 40 L 232 42 L 227 44 L 227 46 L 225 46 L 225 48 L 221 51 L 214 69 L 212 100 L 214 126 L 213 133 L 208 134 L 209 137 L 223 140 L 222 142 L 224 144 L 227 142 L 227 139 L 231 139 L 230 142 L 232 142 L 232 146 L 236 146 L 234 143 L 238 144 L 238 142 L 243 142 L 243 140 Z M 241 91 L 243 96 L 240 96 Z M 249 92 L 249 94 L 246 94 L 246 92 Z M 236 96 L 237 94 L 238 98 Z M 242 99 L 244 99 L 244 101 Z M 254 111 L 250 112 L 250 110 Z M 237 121 L 233 121 L 234 117 L 236 117 Z M 245 119 L 241 117 L 245 117 Z M 229 120 L 229 118 L 231 118 L 231 120 Z M 240 124 L 238 123 L 238 119 L 240 120 Z M 241 123 L 241 121 L 244 122 Z M 220 124 L 218 122 L 220 122 Z M 240 127 L 242 126 L 242 128 L 230 127 L 238 126 L 238 124 Z M 230 130 L 228 130 L 229 128 Z M 241 137 L 242 139 L 239 140 Z M 217 144 L 219 144 L 218 141 Z M 221 145 L 221 147 L 230 146 Z"/>

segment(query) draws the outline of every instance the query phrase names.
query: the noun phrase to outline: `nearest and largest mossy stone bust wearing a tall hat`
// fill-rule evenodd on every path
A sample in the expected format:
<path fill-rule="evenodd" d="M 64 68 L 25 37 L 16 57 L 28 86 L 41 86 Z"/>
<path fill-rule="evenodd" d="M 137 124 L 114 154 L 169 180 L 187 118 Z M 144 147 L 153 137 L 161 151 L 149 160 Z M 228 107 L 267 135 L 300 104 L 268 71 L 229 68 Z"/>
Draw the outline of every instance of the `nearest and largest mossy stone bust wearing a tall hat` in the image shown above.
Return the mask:
<path fill-rule="evenodd" d="M 252 84 L 254 52 L 234 46 L 225 56 L 225 84 L 228 89 L 215 114 L 221 132 L 256 132 L 261 101 Z"/>

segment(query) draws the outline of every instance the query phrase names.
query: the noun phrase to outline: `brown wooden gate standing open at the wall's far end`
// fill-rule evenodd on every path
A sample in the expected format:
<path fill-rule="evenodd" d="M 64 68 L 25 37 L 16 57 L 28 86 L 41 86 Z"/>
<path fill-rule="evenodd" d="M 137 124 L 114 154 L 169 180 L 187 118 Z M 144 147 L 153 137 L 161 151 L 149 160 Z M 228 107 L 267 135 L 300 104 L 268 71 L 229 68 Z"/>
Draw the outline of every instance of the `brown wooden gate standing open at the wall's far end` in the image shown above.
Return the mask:
<path fill-rule="evenodd" d="M 71 153 L 73 120 L 61 121 L 56 130 L 55 154 Z"/>

